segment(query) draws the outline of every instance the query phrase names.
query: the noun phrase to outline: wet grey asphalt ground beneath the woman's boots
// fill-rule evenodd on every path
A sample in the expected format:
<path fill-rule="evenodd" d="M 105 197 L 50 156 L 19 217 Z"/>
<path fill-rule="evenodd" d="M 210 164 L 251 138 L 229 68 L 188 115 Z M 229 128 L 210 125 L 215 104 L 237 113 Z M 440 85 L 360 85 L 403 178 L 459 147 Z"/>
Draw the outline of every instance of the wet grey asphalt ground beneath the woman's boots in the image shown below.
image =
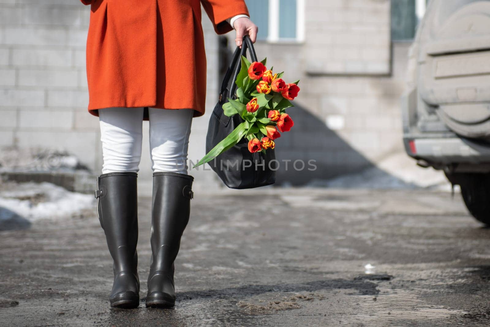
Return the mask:
<path fill-rule="evenodd" d="M 426 190 L 196 192 L 175 308 L 111 309 L 94 210 L 0 232 L 1 326 L 489 326 L 490 229 Z"/>

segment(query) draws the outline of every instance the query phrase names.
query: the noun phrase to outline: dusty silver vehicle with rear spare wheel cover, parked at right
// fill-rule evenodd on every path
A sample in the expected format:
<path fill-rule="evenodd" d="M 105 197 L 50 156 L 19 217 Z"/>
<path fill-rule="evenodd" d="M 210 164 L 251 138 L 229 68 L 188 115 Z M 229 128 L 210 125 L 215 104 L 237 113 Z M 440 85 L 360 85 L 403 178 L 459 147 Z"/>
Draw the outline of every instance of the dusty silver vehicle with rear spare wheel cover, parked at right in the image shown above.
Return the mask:
<path fill-rule="evenodd" d="M 409 54 L 403 140 L 490 224 L 490 0 L 431 0 Z"/>

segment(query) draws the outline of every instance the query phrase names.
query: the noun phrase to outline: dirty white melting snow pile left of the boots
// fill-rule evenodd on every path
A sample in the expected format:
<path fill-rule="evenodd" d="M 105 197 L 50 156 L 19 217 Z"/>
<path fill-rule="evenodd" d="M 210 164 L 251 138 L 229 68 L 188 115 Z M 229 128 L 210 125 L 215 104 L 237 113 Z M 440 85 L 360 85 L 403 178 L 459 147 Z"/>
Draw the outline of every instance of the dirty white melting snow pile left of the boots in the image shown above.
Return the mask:
<path fill-rule="evenodd" d="M 0 222 L 13 214 L 35 221 L 93 208 L 93 195 L 70 192 L 51 183 L 21 183 L 0 190 Z"/>

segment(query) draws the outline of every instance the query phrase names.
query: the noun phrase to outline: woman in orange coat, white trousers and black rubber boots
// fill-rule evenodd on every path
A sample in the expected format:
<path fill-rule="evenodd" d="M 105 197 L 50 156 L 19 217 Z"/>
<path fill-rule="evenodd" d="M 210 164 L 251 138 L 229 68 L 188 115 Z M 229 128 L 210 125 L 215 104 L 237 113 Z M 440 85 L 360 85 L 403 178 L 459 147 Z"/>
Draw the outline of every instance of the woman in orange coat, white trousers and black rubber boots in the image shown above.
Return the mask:
<path fill-rule="evenodd" d="M 102 174 L 98 217 L 114 259 L 113 307 L 139 304 L 136 178 L 142 121 L 149 120 L 153 169 L 151 261 L 146 305 L 175 304 L 173 262 L 189 221 L 193 177 L 187 147 L 204 114 L 206 57 L 201 3 L 218 34 L 236 43 L 257 26 L 244 0 L 81 0 L 91 5 L 87 37 L 88 111 L 99 117 Z"/>

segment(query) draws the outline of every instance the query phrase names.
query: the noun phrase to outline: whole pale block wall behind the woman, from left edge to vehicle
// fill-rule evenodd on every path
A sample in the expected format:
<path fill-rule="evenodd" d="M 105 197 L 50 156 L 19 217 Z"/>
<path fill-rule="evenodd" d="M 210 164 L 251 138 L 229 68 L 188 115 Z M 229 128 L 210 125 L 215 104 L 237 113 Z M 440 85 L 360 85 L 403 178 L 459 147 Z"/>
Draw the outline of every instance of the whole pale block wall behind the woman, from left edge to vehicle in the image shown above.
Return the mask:
<path fill-rule="evenodd" d="M 256 50 L 275 70 L 285 70 L 286 79 L 301 79 L 298 108 L 290 111 L 295 129 L 278 140 L 278 156 L 313 158 L 320 168 L 314 177 L 327 178 L 402 149 L 398 98 L 407 45 L 396 45 L 390 57 L 389 0 L 305 3 L 304 43 L 259 42 Z M 78 0 L 0 0 L 0 146 L 61 146 L 99 173 L 98 119 L 86 109 L 89 13 Z M 193 122 L 191 160 L 204 155 L 218 89 L 217 38 L 204 12 L 203 26 L 207 114 Z M 229 37 L 233 45 L 234 33 Z M 329 119 L 335 130 L 327 126 Z M 150 180 L 147 139 L 140 167 L 140 177 Z M 217 185 L 211 171 L 191 172 L 196 181 Z"/>

